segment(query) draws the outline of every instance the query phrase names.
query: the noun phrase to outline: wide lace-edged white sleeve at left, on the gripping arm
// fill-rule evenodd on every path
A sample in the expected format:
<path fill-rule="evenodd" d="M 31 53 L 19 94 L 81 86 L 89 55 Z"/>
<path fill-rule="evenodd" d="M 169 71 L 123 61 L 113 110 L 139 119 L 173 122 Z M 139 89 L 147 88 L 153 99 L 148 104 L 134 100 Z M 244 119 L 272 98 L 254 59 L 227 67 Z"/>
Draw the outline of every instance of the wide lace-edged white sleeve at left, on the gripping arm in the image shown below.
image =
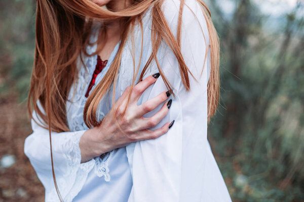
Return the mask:
<path fill-rule="evenodd" d="M 35 112 L 32 115 L 34 120 L 42 123 Z M 33 119 L 33 132 L 25 139 L 24 153 L 45 187 L 45 201 L 59 201 L 53 181 L 49 131 Z M 64 201 L 72 201 L 94 166 L 94 159 L 81 163 L 79 141 L 85 131 L 51 133 L 56 181 Z"/>

